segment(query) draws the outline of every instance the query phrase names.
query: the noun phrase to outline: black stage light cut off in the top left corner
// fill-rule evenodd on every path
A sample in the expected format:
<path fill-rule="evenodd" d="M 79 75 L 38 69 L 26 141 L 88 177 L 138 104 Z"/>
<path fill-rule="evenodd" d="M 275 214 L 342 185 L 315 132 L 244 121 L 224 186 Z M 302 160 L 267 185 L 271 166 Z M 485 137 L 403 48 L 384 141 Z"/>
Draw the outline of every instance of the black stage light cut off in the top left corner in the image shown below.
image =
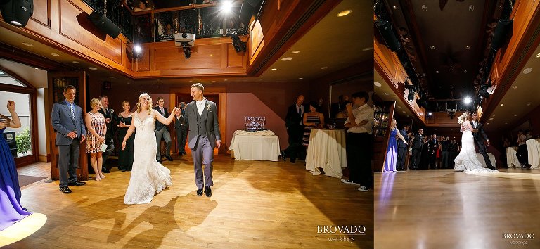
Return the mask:
<path fill-rule="evenodd" d="M 33 0 L 7 0 L 0 1 L 0 12 L 6 23 L 18 27 L 25 27 L 28 19 L 34 13 Z"/>

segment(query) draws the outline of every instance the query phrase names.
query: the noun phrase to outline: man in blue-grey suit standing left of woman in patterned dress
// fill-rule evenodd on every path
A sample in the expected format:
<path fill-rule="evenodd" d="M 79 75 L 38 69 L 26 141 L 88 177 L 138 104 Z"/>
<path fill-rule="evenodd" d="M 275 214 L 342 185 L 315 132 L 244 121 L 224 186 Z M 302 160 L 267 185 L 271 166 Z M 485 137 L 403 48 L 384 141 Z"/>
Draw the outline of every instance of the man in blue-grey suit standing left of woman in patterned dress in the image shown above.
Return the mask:
<path fill-rule="evenodd" d="M 86 139 L 86 129 L 82 109 L 73 103 L 76 91 L 72 85 L 65 86 L 65 100 L 55 103 L 51 112 L 51 123 L 56 131 L 55 145 L 58 147 L 58 175 L 62 193 L 71 193 L 69 186 L 86 184 L 77 178 L 79 146 Z"/>

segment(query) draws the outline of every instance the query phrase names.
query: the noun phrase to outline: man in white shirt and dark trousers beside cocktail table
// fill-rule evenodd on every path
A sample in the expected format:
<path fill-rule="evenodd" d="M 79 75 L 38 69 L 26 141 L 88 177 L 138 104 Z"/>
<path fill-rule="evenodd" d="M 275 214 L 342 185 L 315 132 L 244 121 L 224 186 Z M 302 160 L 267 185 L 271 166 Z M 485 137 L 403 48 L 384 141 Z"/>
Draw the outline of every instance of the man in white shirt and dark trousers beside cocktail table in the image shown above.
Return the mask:
<path fill-rule="evenodd" d="M 348 103 L 347 120 L 347 167 L 349 179 L 342 179 L 345 184 L 360 186 L 359 191 L 368 191 L 373 187 L 371 170 L 371 151 L 373 150 L 373 108 L 367 105 L 369 95 L 365 91 L 352 94 L 352 103 Z M 357 108 L 352 108 L 352 105 Z"/>

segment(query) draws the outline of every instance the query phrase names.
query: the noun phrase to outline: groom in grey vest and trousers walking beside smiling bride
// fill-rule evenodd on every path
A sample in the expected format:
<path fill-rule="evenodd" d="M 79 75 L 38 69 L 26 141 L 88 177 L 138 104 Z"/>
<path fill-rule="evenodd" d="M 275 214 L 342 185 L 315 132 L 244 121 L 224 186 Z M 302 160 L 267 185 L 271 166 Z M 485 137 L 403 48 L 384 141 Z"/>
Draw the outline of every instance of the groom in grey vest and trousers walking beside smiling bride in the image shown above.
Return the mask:
<path fill-rule="evenodd" d="M 191 97 L 193 101 L 186 106 L 186 117 L 189 127 L 189 142 L 193 165 L 195 167 L 195 184 L 197 184 L 197 195 L 203 196 L 203 186 L 207 197 L 212 196 L 210 186 L 212 181 L 212 161 L 214 161 L 214 148 L 221 146 L 221 134 L 219 134 L 219 124 L 217 120 L 216 103 L 208 101 L 203 96 L 205 87 L 196 83 L 191 85 Z M 179 112 L 180 110 L 176 110 Z M 176 115 L 179 115 L 177 113 Z M 204 181 L 203 181 L 203 164 Z"/>

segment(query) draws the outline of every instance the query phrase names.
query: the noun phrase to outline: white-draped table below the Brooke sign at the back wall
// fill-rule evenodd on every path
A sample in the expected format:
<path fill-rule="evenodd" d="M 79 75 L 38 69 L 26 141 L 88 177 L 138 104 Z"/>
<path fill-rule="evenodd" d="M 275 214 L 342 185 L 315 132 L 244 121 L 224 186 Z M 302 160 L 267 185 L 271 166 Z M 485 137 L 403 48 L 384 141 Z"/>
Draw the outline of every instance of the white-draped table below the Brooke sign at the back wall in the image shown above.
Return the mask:
<path fill-rule="evenodd" d="M 271 131 L 234 132 L 231 140 L 231 158 L 236 160 L 278 160 L 280 154 L 279 137 Z"/>

